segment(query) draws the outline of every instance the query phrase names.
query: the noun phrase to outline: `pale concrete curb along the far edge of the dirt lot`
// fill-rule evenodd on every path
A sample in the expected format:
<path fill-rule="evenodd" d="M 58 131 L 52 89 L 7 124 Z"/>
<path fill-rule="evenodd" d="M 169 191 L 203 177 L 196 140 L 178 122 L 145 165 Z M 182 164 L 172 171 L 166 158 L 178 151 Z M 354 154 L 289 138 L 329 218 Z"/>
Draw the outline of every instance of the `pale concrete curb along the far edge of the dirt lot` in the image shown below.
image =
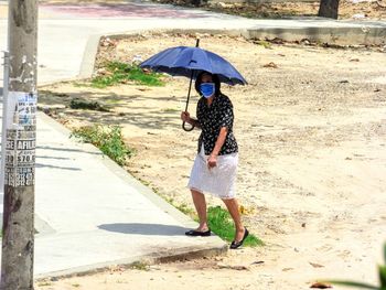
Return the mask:
<path fill-rule="evenodd" d="M 342 22 L 344 23 L 344 22 Z M 165 30 L 137 30 L 125 33 L 101 33 L 92 35 L 86 44 L 84 56 L 81 63 L 79 74 L 77 78 L 88 78 L 93 75 L 95 60 L 98 52 L 98 46 L 101 37 L 125 39 L 136 37 L 142 33 L 153 34 L 225 34 L 229 36 L 243 36 L 250 39 L 274 40 L 275 37 L 283 41 L 294 42 L 308 39 L 313 42 L 330 43 L 339 45 L 358 45 L 358 44 L 386 44 L 386 24 L 375 25 L 374 23 L 361 23 L 357 26 L 341 26 L 341 28 L 261 28 L 261 29 L 237 29 L 237 30 L 204 30 L 204 29 L 165 29 Z M 58 80 L 60 82 L 60 80 Z M 55 82 L 55 83 L 58 83 Z"/>

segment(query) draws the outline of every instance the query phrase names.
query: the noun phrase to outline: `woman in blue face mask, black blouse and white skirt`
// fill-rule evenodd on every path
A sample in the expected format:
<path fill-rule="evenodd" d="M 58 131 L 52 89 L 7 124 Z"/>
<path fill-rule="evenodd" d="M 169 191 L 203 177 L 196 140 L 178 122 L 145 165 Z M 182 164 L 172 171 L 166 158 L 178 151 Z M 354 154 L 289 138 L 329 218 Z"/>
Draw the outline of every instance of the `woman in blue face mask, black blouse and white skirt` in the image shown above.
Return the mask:
<path fill-rule="evenodd" d="M 236 249 L 243 245 L 248 230 L 242 224 L 234 190 L 238 147 L 233 135 L 233 105 L 229 98 L 221 93 L 217 75 L 201 73 L 196 78 L 195 89 L 202 96 L 197 104 L 197 119 L 191 118 L 187 111 L 181 114 L 181 119 L 202 130 L 197 155 L 187 184 L 200 218 L 200 226 L 185 234 L 187 236 L 211 235 L 204 192 L 211 193 L 222 198 L 230 213 L 236 227 L 230 248 Z"/>

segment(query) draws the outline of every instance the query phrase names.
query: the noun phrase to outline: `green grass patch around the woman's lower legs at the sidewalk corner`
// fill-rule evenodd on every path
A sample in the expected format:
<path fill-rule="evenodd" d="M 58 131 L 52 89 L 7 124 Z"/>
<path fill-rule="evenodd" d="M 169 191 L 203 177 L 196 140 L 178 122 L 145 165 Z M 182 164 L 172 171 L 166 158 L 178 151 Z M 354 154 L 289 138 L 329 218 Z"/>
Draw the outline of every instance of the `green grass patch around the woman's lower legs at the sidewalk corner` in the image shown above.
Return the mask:
<path fill-rule="evenodd" d="M 232 241 L 235 236 L 235 226 L 228 211 L 221 206 L 211 206 L 207 211 L 208 226 L 213 233 L 219 236 L 222 239 Z M 262 246 L 264 243 L 258 237 L 249 234 L 244 241 L 244 246 L 256 247 Z"/>

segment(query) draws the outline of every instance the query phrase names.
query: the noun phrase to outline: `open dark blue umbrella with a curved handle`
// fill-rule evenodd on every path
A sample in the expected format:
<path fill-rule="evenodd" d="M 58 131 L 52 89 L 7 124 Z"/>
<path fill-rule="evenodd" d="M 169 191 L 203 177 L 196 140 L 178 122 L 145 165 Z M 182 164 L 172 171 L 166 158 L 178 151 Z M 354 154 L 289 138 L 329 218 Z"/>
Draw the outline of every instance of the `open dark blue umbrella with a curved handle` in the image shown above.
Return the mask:
<path fill-rule="evenodd" d="M 167 49 L 140 64 L 141 68 L 151 68 L 154 72 L 162 72 L 172 76 L 191 78 L 185 111 L 187 111 L 192 80 L 203 71 L 216 74 L 219 82 L 228 85 L 247 84 L 245 78 L 229 62 L 213 52 L 200 49 L 199 42 L 200 40 L 197 40 L 195 47 L 176 46 Z M 186 129 L 184 123 L 182 127 L 185 131 L 191 131 L 194 128 Z"/>

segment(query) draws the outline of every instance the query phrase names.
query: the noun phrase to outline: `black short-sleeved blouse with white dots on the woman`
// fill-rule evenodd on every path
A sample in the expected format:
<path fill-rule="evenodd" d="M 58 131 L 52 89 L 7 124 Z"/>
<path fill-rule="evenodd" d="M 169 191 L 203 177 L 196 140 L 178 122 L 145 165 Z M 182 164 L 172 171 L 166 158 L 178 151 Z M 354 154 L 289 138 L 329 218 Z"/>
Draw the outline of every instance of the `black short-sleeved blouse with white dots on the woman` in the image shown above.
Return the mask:
<path fill-rule="evenodd" d="M 212 153 L 222 127 L 227 127 L 228 132 L 218 155 L 238 151 L 236 138 L 233 133 L 233 105 L 227 96 L 223 94 L 215 96 L 211 106 L 202 97 L 197 104 L 196 116 L 202 129 L 199 138 L 197 153 L 200 153 L 202 144 L 204 144 L 206 155 Z"/>

